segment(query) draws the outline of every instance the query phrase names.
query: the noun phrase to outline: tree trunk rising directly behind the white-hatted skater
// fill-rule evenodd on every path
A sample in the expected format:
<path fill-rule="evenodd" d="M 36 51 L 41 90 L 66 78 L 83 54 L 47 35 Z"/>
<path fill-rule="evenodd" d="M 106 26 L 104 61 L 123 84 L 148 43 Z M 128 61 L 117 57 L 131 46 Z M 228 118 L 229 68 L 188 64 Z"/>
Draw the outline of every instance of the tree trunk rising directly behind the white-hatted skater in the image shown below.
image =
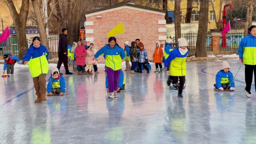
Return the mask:
<path fill-rule="evenodd" d="M 174 20 L 175 20 L 175 42 L 178 42 L 178 38 L 181 37 L 181 27 L 180 27 L 180 0 L 175 0 L 174 4 Z"/>

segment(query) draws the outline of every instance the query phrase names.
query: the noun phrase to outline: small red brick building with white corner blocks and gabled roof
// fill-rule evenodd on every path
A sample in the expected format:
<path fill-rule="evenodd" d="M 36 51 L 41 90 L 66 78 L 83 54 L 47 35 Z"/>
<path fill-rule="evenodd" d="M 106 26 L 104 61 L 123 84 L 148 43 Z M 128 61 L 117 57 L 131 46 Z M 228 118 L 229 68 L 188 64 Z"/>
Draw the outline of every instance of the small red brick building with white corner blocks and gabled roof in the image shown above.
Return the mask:
<path fill-rule="evenodd" d="M 108 32 L 120 22 L 123 22 L 125 33 L 115 36 L 117 43 L 124 47 L 126 40 L 131 43 L 139 38 L 148 51 L 149 60 L 152 60 L 156 41 L 164 44 L 166 40 L 163 10 L 122 3 L 86 12 L 84 16 L 86 40 L 94 40 L 98 49 L 108 43 Z M 99 58 L 99 62 L 104 62 L 103 56 Z"/>

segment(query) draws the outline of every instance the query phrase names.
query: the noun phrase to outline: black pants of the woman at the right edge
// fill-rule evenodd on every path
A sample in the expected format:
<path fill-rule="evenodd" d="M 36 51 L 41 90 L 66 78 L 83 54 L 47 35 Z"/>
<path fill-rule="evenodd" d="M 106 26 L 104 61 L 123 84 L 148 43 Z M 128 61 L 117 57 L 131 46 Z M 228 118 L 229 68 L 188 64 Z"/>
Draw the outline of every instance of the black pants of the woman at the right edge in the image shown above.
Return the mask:
<path fill-rule="evenodd" d="M 246 82 L 245 90 L 251 94 L 253 71 L 254 71 L 254 83 L 256 83 L 256 65 L 248 65 L 248 64 L 244 64 L 244 65 L 245 65 L 244 74 L 245 74 L 245 82 Z M 255 90 L 256 90 L 256 87 L 255 87 Z"/>

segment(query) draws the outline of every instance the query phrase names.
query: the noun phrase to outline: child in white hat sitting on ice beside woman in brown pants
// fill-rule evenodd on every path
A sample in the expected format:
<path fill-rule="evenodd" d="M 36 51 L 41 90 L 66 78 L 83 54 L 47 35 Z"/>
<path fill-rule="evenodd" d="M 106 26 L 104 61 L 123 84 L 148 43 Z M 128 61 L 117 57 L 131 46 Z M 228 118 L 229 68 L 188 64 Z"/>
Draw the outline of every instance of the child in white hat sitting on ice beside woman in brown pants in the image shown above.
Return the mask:
<path fill-rule="evenodd" d="M 64 95 L 66 92 L 65 87 L 65 79 L 62 74 L 59 72 L 58 68 L 52 69 L 52 74 L 48 79 L 47 84 L 47 95 L 60 94 L 60 96 Z"/>

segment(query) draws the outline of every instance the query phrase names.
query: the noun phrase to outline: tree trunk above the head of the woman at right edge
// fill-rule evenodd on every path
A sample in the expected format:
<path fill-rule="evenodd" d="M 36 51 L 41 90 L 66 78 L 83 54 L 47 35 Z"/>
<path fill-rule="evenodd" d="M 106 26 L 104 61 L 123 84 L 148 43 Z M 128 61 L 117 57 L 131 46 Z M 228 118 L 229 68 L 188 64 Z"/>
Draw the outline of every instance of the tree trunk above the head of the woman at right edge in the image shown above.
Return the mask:
<path fill-rule="evenodd" d="M 253 0 L 249 0 L 247 3 L 247 10 L 246 10 L 246 19 L 244 24 L 244 36 L 247 36 L 248 28 L 252 25 L 252 15 L 253 15 Z"/>

